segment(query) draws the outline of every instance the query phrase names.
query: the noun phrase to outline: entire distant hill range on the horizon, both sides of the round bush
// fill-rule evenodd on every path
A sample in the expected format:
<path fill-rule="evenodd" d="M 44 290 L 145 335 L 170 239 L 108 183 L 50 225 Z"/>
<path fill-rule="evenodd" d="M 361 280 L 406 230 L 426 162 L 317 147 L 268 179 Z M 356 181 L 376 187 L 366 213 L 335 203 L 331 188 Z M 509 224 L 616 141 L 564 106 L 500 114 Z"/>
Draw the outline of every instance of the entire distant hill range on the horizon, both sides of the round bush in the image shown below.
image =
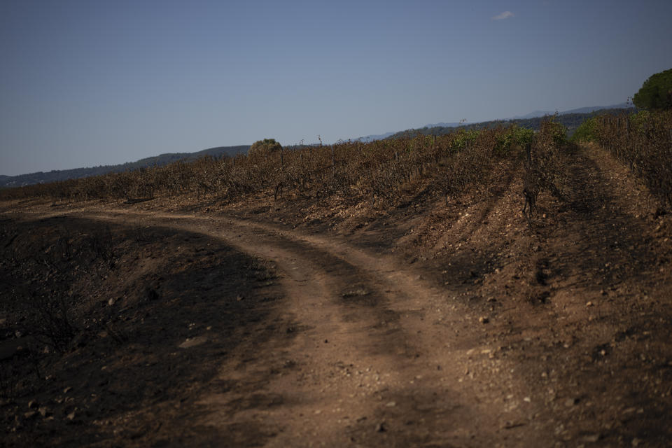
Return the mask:
<path fill-rule="evenodd" d="M 588 118 L 589 114 L 595 113 L 596 111 L 624 111 L 624 109 L 630 109 L 633 106 L 631 104 L 622 103 L 615 104 L 613 106 L 591 106 L 591 107 L 582 107 L 579 109 L 572 109 L 570 111 L 561 112 L 561 123 L 568 127 L 568 130 L 573 132 L 573 130 L 582 123 L 583 120 Z M 516 123 L 522 127 L 531 127 L 533 129 L 538 128 L 541 123 L 541 118 L 547 115 L 553 115 L 555 112 L 551 111 L 534 111 L 528 113 L 524 116 L 516 116 L 513 118 L 506 118 L 504 120 L 493 120 L 489 122 L 481 123 L 435 123 L 431 125 L 426 125 L 425 127 L 406 130 L 402 132 L 387 132 L 385 134 L 377 135 L 368 135 L 366 137 L 360 137 L 356 140 L 363 141 L 368 143 L 374 140 L 387 139 L 389 137 L 402 137 L 402 136 L 412 136 L 416 134 L 445 134 L 451 132 L 456 127 L 467 127 L 472 129 L 479 129 L 481 127 L 487 127 L 490 125 L 496 125 L 497 123 L 509 122 Z M 246 153 L 250 146 L 241 145 L 241 146 L 218 146 L 217 148 L 204 149 L 203 151 L 198 151 L 196 153 L 166 153 L 161 155 L 156 155 L 153 157 L 148 157 L 144 159 L 137 160 L 136 162 L 128 162 L 121 165 L 104 165 L 100 167 L 91 167 L 91 168 L 75 168 L 75 169 L 61 169 L 53 170 L 50 172 L 36 172 L 30 174 L 21 174 L 19 176 L 3 176 L 0 175 L 0 188 L 10 188 L 10 187 L 20 187 L 25 185 L 30 185 L 32 183 L 47 183 L 54 181 L 65 181 L 67 179 L 80 179 L 83 177 L 89 176 L 98 176 L 100 174 L 115 173 L 115 172 L 125 172 L 131 171 L 133 169 L 139 169 L 142 167 L 152 167 L 155 165 L 167 165 L 168 163 L 177 162 L 178 160 L 196 160 L 205 156 L 212 157 L 221 157 L 223 155 L 235 156 L 237 154 Z"/>

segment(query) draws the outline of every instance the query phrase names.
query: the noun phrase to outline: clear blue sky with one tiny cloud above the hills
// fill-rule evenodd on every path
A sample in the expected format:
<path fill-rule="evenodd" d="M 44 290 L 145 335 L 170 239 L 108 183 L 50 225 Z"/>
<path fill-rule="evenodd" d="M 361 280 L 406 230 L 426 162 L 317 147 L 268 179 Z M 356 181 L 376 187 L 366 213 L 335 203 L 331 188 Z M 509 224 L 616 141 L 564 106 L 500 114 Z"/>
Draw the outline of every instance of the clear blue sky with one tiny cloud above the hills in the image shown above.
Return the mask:
<path fill-rule="evenodd" d="M 672 1 L 0 1 L 0 174 L 625 102 Z"/>

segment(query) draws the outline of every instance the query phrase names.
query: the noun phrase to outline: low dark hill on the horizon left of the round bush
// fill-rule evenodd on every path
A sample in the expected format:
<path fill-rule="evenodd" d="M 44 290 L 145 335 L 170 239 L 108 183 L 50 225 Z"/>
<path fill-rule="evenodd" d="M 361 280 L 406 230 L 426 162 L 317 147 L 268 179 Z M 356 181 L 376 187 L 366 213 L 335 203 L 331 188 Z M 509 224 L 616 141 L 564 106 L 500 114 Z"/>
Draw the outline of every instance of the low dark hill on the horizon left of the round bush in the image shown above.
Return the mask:
<path fill-rule="evenodd" d="M 217 148 L 204 149 L 203 151 L 198 151 L 196 153 L 165 153 L 140 159 L 136 162 L 127 162 L 120 165 L 55 169 L 50 172 L 20 174 L 19 176 L 0 175 L 0 188 L 20 187 L 31 185 L 32 183 L 66 181 L 67 179 L 80 179 L 83 177 L 98 176 L 100 174 L 132 171 L 133 169 L 153 167 L 154 165 L 166 165 L 168 163 L 177 162 L 178 160 L 196 160 L 208 155 L 211 157 L 221 157 L 223 155 L 234 156 L 240 153 L 246 153 L 249 148 L 250 147 L 248 145 L 218 146 Z"/>

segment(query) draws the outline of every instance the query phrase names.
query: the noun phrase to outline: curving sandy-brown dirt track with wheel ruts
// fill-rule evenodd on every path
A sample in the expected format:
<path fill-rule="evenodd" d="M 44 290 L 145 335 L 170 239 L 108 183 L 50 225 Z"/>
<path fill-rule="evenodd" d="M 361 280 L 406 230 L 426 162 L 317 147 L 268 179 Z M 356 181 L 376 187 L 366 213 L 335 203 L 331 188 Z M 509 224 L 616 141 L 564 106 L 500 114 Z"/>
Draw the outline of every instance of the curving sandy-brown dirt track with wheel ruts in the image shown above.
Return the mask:
<path fill-rule="evenodd" d="M 238 446 L 533 446 L 515 365 L 494 356 L 478 316 L 398 260 L 337 237 L 228 217 L 75 211 L 106 222 L 198 232 L 274 260 L 293 344 L 243 342 L 191 424 Z M 272 344 L 271 344 L 272 345 Z M 276 366 L 286 368 L 278 370 Z M 545 440 L 545 442 L 542 442 Z M 539 445 L 540 446 L 540 445 Z"/>

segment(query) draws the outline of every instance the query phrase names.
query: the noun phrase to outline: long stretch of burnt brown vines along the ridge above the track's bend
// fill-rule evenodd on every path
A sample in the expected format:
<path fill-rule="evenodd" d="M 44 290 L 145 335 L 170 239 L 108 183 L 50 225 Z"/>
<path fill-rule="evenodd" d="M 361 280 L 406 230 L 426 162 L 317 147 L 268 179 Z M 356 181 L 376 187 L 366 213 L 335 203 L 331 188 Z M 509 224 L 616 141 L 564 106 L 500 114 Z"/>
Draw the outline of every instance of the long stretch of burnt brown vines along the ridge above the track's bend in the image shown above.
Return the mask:
<path fill-rule="evenodd" d="M 203 158 L 134 172 L 3 190 L 0 197 L 52 200 L 127 199 L 192 195 L 234 202 L 250 195 L 276 200 L 337 197 L 346 204 L 393 207 L 404 188 L 428 179 L 448 199 L 482 179 L 493 160 L 530 144 L 533 132 L 518 127 L 459 131 L 283 151 L 258 151 L 235 158 Z"/>

